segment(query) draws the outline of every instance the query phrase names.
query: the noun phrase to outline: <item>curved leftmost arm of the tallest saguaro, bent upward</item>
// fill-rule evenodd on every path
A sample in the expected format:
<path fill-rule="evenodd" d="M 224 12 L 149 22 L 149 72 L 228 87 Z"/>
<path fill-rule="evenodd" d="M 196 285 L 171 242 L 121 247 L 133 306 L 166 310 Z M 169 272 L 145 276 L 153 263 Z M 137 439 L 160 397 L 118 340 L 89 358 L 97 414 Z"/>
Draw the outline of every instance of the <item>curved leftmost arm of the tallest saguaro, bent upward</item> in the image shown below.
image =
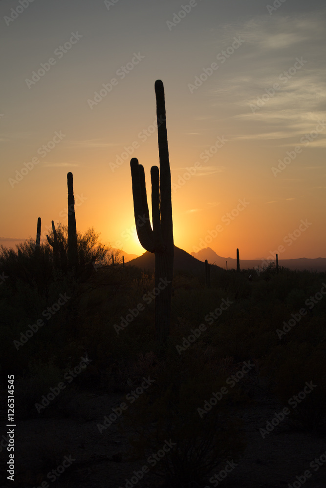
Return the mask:
<path fill-rule="evenodd" d="M 154 252 L 154 236 L 150 223 L 150 213 L 148 210 L 144 168 L 141 164 L 138 164 L 138 160 L 136 158 L 131 159 L 130 168 L 133 208 L 138 239 L 144 249 Z M 140 218 L 145 219 L 145 223 L 143 221 L 139 223 Z"/>

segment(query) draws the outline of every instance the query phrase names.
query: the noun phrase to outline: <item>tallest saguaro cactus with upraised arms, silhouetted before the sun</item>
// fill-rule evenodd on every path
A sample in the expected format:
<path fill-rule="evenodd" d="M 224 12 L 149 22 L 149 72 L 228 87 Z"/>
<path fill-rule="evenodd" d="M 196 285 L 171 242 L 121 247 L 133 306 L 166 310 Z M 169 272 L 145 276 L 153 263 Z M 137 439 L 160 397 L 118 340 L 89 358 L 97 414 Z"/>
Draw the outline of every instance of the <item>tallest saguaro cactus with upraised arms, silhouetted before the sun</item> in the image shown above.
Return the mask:
<path fill-rule="evenodd" d="M 130 161 L 133 208 L 137 235 L 147 251 L 155 253 L 155 331 L 156 340 L 163 344 L 169 336 L 174 260 L 174 241 L 171 202 L 171 172 L 164 87 L 155 81 L 158 151 L 160 168 L 152 166 L 152 226 L 146 195 L 144 167 L 136 158 Z"/>

